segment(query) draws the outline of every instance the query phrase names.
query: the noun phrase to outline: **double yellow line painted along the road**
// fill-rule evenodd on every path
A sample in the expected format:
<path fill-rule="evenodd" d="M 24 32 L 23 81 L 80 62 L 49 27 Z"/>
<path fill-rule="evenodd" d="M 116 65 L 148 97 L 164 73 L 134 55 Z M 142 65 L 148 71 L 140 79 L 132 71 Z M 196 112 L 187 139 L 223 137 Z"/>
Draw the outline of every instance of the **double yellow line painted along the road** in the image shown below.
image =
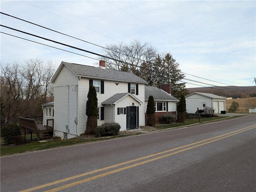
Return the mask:
<path fill-rule="evenodd" d="M 168 156 L 180 153 L 180 152 L 184 152 L 184 151 L 190 150 L 192 148 L 196 148 L 196 147 L 199 147 L 199 146 L 202 146 L 202 145 L 205 145 L 205 144 L 213 143 L 215 141 L 225 139 L 227 137 L 231 137 L 233 135 L 237 135 L 239 133 L 243 133 L 244 131 L 248 131 L 248 130 L 254 129 L 254 128 L 256 128 L 256 125 L 252 125 L 250 127 L 245 127 L 243 129 L 239 129 L 237 131 L 232 131 L 230 133 L 226 133 L 226 134 L 223 134 L 223 135 L 219 135 L 219 136 L 212 137 L 212 138 L 209 138 L 209 139 L 205 139 L 205 140 L 202 140 L 202 141 L 198 141 L 198 142 L 195 142 L 195 143 L 187 144 L 187 145 L 180 146 L 180 147 L 177 147 L 177 148 L 172 148 L 170 150 L 166 150 L 166 151 L 163 151 L 163 152 L 158 152 L 158 153 L 151 154 L 151 155 L 148 155 L 148 156 L 144 156 L 144 157 L 141 157 L 141 158 L 136 158 L 136 159 L 129 160 L 129 161 L 126 161 L 126 162 L 122 162 L 122 163 L 119 163 L 119 164 L 115 164 L 115 165 L 112 165 L 112 166 L 107 166 L 107 167 L 104 167 L 104 168 L 101 168 L 101 169 L 93 170 L 93 171 L 90 171 L 90 172 L 86 172 L 86 173 L 75 175 L 75 176 L 68 177 L 68 178 L 65 178 L 65 179 L 57 180 L 57 181 L 54 181 L 54 182 L 46 183 L 46 184 L 43 184 L 43 185 L 40 185 L 40 186 L 36 186 L 36 187 L 32 187 L 32 188 L 29 188 L 29 189 L 26 189 L 26 190 L 22 190 L 20 192 L 30 192 L 30 191 L 38 190 L 38 189 L 41 189 L 41 188 L 46 188 L 46 187 L 49 187 L 49 186 L 52 186 L 52 185 L 55 185 L 55 184 L 59 184 L 59 183 L 62 183 L 62 182 L 67 182 L 67 181 L 70 181 L 70 180 L 73 180 L 73 179 L 88 176 L 90 174 L 95 174 L 95 173 L 98 173 L 98 172 L 102 172 L 102 171 L 105 171 L 105 170 L 109 170 L 109 169 L 112 169 L 112 168 L 116 168 L 116 167 L 119 167 L 119 166 L 124 166 L 126 164 L 137 162 L 135 164 L 127 165 L 127 166 L 124 166 L 124 167 L 121 167 L 121 168 L 117 168 L 115 170 L 110 170 L 108 172 L 104 172 L 104 173 L 101 173 L 101 174 L 97 174 L 95 176 L 91 176 L 89 178 L 85 178 L 85 179 L 78 180 L 78 181 L 75 181 L 75 182 L 72 182 L 72 183 L 69 183 L 69 184 L 65 184 L 65 185 L 60 186 L 60 187 L 52 188 L 50 190 L 47 190 L 46 192 L 54 192 L 54 191 L 63 190 L 63 189 L 66 189 L 66 188 L 69 188 L 69 187 L 72 187 L 72 186 L 75 186 L 75 185 L 78 185 L 78 184 L 81 184 L 81 183 L 84 183 L 84 182 L 88 182 L 90 180 L 101 178 L 101 177 L 104 177 L 104 176 L 107 176 L 107 175 L 110 175 L 110 174 L 114 174 L 116 172 L 120 172 L 122 170 L 133 168 L 133 167 L 136 167 L 136 166 L 139 166 L 139 165 L 142 165 L 142 164 L 146 164 L 148 162 L 152 162 L 152 161 L 164 158 L 164 157 L 168 157 Z M 171 153 L 169 153 L 169 152 L 171 152 Z M 168 154 L 165 154 L 165 153 L 168 153 Z M 154 158 L 152 158 L 152 157 L 154 157 Z M 150 159 L 144 160 L 144 159 L 147 159 L 147 158 L 150 158 Z M 144 161 L 141 161 L 141 160 L 144 160 Z M 141 161 L 141 162 L 138 162 L 138 161 Z"/>

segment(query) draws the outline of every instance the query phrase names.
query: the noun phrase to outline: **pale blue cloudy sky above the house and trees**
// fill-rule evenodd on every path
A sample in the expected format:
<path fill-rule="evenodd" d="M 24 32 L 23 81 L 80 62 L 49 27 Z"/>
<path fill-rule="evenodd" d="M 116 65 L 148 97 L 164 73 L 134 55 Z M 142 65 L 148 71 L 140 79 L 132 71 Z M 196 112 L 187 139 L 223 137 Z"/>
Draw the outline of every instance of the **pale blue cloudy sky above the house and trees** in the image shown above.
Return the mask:
<path fill-rule="evenodd" d="M 91 44 L 0 14 L 3 26 L 95 53 L 102 53 L 100 46 L 105 47 L 106 44 L 120 42 L 129 44 L 133 39 L 142 43 L 148 42 L 159 53 L 170 52 L 180 63 L 180 69 L 185 73 L 186 79 L 192 80 L 184 80 L 188 82 L 187 88 L 209 86 L 195 81 L 217 86 L 255 86 L 253 82 L 256 76 L 255 0 L 1 0 L 0 6 L 4 14 Z M 30 58 L 51 60 L 56 66 L 60 65 L 61 61 L 92 66 L 98 63 L 97 56 L 90 53 L 2 26 L 1 32 L 2 65 L 16 61 L 24 62 Z"/>

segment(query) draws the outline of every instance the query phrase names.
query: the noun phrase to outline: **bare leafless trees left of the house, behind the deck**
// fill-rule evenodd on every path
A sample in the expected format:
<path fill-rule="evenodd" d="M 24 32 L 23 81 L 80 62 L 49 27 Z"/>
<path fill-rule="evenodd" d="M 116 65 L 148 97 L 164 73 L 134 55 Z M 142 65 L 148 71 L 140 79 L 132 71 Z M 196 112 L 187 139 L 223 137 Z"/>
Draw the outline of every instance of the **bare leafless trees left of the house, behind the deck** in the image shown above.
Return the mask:
<path fill-rule="evenodd" d="M 1 63 L 1 126 L 19 117 L 42 116 L 42 104 L 53 101 L 52 61 L 27 59 L 24 63 Z"/>

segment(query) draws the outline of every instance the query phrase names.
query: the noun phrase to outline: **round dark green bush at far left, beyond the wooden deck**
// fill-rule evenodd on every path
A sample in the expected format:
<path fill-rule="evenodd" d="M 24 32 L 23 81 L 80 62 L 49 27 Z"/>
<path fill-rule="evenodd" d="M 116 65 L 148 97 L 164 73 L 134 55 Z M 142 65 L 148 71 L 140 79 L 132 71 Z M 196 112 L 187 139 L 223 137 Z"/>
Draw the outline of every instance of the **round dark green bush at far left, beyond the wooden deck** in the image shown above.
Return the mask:
<path fill-rule="evenodd" d="M 4 144 L 13 144 L 14 137 L 21 134 L 21 129 L 16 123 L 6 124 L 1 129 L 1 137 L 4 138 Z"/>

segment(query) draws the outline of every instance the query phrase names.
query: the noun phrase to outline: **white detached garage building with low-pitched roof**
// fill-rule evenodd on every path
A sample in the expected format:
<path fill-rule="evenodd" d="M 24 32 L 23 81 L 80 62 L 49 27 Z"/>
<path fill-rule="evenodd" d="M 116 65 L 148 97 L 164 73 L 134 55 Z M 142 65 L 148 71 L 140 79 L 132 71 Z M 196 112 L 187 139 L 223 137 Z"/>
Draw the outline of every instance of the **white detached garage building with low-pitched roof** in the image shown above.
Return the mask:
<path fill-rule="evenodd" d="M 214 113 L 226 111 L 226 98 L 211 93 L 191 93 L 185 96 L 187 113 L 196 113 L 198 109 L 210 107 L 214 109 Z"/>

